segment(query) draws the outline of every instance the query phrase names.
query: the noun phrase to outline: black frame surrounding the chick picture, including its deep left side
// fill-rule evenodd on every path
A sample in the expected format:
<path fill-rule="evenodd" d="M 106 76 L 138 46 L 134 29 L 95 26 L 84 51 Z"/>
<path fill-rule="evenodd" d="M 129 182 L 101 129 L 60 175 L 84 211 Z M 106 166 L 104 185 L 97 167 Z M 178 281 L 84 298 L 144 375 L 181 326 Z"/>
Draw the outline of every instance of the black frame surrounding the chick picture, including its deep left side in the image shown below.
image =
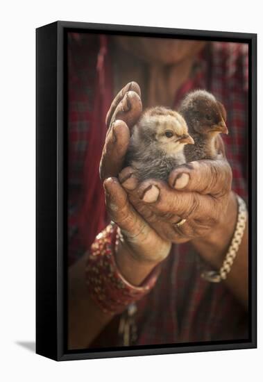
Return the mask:
<path fill-rule="evenodd" d="M 249 311 L 247 341 L 173 344 L 67 351 L 67 107 L 65 33 L 173 36 L 247 42 L 249 46 Z M 53 360 L 78 360 L 257 347 L 257 35 L 145 26 L 54 22 L 36 30 L 36 353 Z"/>

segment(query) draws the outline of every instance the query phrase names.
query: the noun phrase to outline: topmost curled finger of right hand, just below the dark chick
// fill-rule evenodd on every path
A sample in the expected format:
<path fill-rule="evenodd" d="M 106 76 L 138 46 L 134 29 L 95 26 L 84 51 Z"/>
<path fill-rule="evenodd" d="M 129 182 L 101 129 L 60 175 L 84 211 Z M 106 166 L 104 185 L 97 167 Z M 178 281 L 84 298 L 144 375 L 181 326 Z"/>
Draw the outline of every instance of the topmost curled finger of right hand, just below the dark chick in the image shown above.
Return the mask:
<path fill-rule="evenodd" d="M 173 169 L 168 182 L 175 190 L 220 197 L 231 190 L 232 170 L 224 159 L 196 160 Z"/>

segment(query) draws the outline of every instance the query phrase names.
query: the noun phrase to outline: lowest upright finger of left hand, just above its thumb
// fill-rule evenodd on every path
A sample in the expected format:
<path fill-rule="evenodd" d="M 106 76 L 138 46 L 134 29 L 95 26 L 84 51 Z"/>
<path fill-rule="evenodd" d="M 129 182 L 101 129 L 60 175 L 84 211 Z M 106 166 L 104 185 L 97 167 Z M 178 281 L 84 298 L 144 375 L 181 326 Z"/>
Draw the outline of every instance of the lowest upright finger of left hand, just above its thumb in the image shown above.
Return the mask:
<path fill-rule="evenodd" d="M 101 180 L 110 176 L 118 176 L 121 171 L 130 141 L 130 131 L 123 121 L 115 121 L 112 124 L 110 133 L 108 133 L 103 152 L 99 174 Z"/>

